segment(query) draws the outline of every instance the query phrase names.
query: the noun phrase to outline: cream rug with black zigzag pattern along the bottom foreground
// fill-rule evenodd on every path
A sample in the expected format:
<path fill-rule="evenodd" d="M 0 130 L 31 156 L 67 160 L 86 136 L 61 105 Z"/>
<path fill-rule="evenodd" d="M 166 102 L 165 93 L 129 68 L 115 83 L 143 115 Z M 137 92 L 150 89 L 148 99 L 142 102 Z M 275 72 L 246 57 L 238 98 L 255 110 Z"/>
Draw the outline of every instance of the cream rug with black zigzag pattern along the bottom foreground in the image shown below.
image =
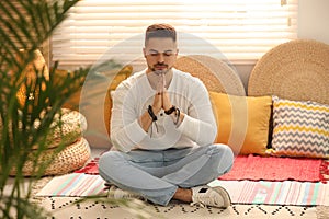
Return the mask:
<path fill-rule="evenodd" d="M 120 205 L 107 204 L 101 200 L 88 200 L 76 204 L 79 198 L 48 197 L 42 206 L 55 218 L 89 219 L 89 218 L 115 218 L 137 219 L 132 209 L 123 208 Z M 200 208 L 186 204 L 170 201 L 168 206 L 156 206 L 146 203 L 143 208 L 145 218 L 174 218 L 174 219 L 234 219 L 234 218 L 317 218 L 316 207 L 296 206 L 271 206 L 271 205 L 232 205 L 227 209 Z M 322 219 L 322 218 L 321 218 Z M 325 219 L 325 218 L 324 218 Z"/>

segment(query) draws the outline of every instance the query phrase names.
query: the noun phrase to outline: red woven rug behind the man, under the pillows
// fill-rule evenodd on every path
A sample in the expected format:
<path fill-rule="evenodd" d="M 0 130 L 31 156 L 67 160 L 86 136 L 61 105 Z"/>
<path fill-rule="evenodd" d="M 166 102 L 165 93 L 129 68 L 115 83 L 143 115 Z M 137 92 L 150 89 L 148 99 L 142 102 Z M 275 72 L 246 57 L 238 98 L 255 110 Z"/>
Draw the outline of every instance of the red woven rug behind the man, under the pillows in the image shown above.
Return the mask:
<path fill-rule="evenodd" d="M 90 161 L 76 173 L 99 174 L 99 158 Z M 329 180 L 329 162 L 309 158 L 273 158 L 260 155 L 238 155 L 234 166 L 219 177 L 226 181 L 300 181 L 322 182 Z"/>

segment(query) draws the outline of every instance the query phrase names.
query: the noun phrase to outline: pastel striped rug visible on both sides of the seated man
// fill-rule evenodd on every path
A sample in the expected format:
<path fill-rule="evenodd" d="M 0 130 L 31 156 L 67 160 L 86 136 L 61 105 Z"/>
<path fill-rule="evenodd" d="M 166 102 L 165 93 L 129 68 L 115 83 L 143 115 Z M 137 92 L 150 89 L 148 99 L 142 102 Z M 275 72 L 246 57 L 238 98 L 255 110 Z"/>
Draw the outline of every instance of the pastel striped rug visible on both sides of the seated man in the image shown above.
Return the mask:
<path fill-rule="evenodd" d="M 37 196 L 106 196 L 104 183 L 100 175 L 72 173 L 54 177 Z M 315 206 L 329 203 L 329 184 L 322 183 L 216 180 L 209 185 L 226 188 L 234 204 Z"/>

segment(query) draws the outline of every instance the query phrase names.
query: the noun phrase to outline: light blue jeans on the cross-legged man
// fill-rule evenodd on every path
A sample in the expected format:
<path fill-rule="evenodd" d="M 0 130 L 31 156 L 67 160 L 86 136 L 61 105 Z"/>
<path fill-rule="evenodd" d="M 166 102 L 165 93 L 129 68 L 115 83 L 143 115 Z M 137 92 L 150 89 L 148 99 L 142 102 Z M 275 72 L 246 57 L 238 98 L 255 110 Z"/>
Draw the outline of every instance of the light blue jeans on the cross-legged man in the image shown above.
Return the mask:
<path fill-rule="evenodd" d="M 234 153 L 226 145 L 161 151 L 109 151 L 99 161 L 100 175 L 109 183 L 168 205 L 178 187 L 205 185 L 227 173 Z"/>

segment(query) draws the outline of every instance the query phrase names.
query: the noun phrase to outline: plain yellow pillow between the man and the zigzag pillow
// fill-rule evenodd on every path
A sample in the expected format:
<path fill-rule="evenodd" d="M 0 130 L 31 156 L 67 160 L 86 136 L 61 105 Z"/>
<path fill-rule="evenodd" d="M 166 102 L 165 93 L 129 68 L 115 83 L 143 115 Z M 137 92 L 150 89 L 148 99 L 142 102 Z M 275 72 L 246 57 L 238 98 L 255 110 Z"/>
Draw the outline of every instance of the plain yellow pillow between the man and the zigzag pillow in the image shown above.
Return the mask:
<path fill-rule="evenodd" d="M 265 155 L 271 96 L 235 96 L 209 92 L 209 97 L 218 126 L 215 142 L 228 145 L 235 154 Z"/>

